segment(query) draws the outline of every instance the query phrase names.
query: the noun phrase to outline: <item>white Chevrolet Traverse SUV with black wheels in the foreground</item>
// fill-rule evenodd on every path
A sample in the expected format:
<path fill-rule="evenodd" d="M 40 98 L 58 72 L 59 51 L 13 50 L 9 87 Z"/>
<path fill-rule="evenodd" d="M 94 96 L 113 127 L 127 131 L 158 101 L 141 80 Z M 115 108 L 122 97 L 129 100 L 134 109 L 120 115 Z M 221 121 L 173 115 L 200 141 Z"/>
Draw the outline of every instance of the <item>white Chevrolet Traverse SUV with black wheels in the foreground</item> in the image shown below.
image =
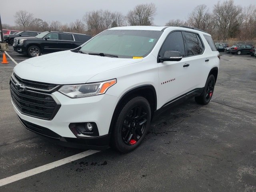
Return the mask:
<path fill-rule="evenodd" d="M 19 63 L 10 81 L 12 104 L 28 130 L 62 145 L 111 144 L 129 152 L 166 107 L 192 97 L 208 104 L 219 58 L 201 30 L 111 28 L 74 50 Z"/>

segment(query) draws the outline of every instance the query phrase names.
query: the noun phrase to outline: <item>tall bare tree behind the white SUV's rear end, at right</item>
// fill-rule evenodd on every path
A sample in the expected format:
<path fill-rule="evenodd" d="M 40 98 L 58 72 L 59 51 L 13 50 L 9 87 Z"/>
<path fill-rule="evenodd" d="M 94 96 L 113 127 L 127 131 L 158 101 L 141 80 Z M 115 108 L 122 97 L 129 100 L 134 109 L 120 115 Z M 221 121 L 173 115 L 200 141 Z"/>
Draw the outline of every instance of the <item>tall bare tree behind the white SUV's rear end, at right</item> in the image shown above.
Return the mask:
<path fill-rule="evenodd" d="M 226 0 L 222 3 L 218 1 L 214 5 L 213 13 L 216 26 L 222 33 L 223 40 L 234 37 L 242 24 L 242 7 L 234 5 L 234 0 Z"/>

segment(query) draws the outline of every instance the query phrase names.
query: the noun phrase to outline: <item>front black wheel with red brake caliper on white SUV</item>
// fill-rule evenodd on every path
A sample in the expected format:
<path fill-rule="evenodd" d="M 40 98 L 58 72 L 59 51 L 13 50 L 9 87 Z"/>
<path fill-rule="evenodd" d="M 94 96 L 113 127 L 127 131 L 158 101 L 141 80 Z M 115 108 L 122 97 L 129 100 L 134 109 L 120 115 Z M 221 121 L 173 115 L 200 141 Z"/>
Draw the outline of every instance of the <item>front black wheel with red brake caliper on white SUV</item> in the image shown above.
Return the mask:
<path fill-rule="evenodd" d="M 122 153 L 137 148 L 150 127 L 151 110 L 148 100 L 137 96 L 122 104 L 112 132 L 112 145 Z"/>

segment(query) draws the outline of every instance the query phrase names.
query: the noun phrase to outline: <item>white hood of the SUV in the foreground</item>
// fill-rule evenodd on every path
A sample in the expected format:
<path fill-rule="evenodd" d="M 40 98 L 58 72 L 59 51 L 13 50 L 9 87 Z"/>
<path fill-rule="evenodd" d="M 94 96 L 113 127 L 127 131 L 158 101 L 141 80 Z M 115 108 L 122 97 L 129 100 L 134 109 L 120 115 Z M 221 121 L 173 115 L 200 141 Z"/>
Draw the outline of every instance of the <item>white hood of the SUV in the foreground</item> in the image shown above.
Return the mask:
<path fill-rule="evenodd" d="M 20 62 L 14 68 L 14 73 L 25 80 L 52 84 L 80 84 L 86 83 L 101 72 L 140 61 L 142 59 L 110 58 L 67 50 Z"/>

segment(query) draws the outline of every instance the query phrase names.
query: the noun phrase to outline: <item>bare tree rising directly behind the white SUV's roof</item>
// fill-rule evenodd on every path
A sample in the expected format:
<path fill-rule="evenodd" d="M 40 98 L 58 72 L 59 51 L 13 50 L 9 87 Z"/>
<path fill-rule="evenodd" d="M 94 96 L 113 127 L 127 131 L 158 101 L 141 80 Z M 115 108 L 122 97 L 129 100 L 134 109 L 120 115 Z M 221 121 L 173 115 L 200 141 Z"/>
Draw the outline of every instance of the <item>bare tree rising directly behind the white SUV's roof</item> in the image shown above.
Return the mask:
<path fill-rule="evenodd" d="M 156 5 L 139 4 L 133 10 L 130 10 L 126 16 L 129 25 L 153 25 L 156 15 Z"/>

